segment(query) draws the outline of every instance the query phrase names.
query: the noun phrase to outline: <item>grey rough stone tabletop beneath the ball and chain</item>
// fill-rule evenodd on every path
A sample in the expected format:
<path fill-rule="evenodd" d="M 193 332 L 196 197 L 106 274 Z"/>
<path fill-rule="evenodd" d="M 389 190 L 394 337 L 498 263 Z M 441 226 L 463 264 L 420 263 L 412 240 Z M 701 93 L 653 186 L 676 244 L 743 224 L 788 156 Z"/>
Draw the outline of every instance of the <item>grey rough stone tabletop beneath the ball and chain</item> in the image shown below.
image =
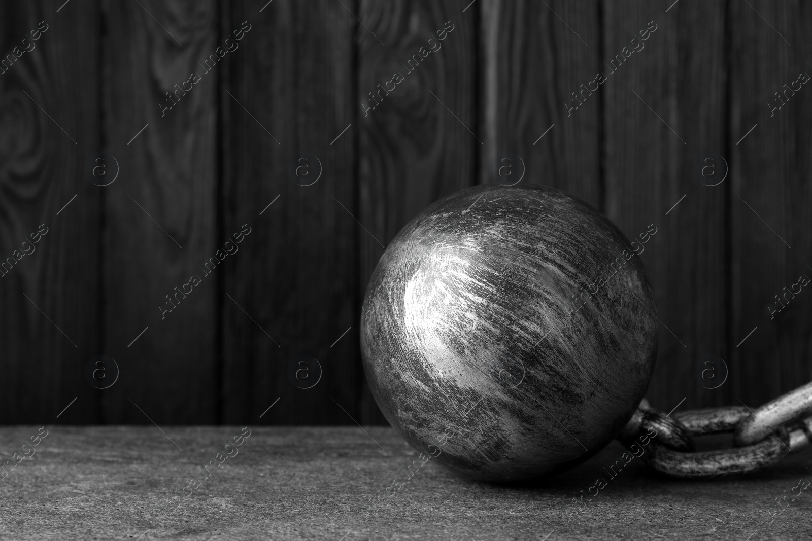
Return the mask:
<path fill-rule="evenodd" d="M 253 427 L 239 447 L 227 442 L 240 441 L 240 427 L 48 430 L 0 481 L 0 539 L 812 536 L 812 487 L 797 488 L 812 480 L 809 449 L 758 474 L 693 482 L 666 479 L 639 459 L 609 479 L 603 466 L 624 451 L 616 442 L 530 487 L 474 483 L 429 461 L 390 496 L 417 453 L 388 427 Z M 36 434 L 0 429 L 3 460 Z M 218 467 L 207 478 L 209 461 Z M 597 477 L 607 487 L 582 508 L 573 503 Z M 791 503 L 779 506 L 784 496 Z"/>

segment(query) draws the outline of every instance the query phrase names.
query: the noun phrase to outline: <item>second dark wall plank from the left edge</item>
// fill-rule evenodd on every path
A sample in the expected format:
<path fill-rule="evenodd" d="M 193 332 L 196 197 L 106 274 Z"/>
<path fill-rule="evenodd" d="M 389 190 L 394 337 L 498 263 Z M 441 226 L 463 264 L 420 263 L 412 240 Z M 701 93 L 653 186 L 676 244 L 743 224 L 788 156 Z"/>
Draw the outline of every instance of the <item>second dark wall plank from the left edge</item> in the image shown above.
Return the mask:
<path fill-rule="evenodd" d="M 198 62 L 221 45 L 217 5 L 105 6 L 106 139 L 121 167 L 105 191 L 104 346 L 121 370 L 104 395 L 105 420 L 215 423 L 217 275 L 198 265 L 222 247 L 215 203 L 220 75 L 217 62 L 209 71 Z M 200 79 L 184 84 L 191 73 Z M 201 283 L 184 286 L 192 276 Z"/>

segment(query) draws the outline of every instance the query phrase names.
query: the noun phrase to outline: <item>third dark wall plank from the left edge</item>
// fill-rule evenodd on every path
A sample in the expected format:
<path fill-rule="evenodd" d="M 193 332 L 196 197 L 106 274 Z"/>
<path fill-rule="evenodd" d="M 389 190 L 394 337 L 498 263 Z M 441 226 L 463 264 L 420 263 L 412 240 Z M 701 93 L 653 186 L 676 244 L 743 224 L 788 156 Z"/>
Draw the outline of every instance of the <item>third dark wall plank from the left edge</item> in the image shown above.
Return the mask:
<path fill-rule="evenodd" d="M 222 4 L 224 35 L 243 21 L 253 28 L 221 102 L 223 238 L 252 228 L 222 274 L 222 419 L 352 423 L 335 401 L 358 419 L 358 10 L 332 0 L 262 4 Z M 306 370 L 302 385 L 317 378 L 315 365 L 296 364 L 302 354 L 322 367 L 311 389 L 288 377 L 293 362 Z"/>

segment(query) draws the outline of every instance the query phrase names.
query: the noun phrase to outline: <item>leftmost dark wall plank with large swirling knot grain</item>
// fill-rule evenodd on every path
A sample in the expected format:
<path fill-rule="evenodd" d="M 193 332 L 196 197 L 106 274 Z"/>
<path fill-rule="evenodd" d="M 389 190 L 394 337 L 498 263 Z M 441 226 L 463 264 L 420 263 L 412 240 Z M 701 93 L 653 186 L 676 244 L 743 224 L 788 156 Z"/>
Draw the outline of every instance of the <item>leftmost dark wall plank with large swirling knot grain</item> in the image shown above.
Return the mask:
<path fill-rule="evenodd" d="M 99 191 L 82 173 L 100 150 L 98 24 L 84 0 L 0 6 L 0 423 L 99 421 L 83 373 L 98 354 Z"/>

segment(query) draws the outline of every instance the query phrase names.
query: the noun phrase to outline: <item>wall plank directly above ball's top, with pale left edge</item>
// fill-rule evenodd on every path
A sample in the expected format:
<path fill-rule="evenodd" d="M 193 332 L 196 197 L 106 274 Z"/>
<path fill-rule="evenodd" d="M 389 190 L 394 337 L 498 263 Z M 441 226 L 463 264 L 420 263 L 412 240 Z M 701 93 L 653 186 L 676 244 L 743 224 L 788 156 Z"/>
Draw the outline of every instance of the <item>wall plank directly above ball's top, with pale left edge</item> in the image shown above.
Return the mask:
<path fill-rule="evenodd" d="M 515 154 L 524 161 L 522 182 L 557 187 L 601 209 L 603 97 L 587 91 L 578 109 L 565 105 L 600 70 L 599 2 L 546 4 L 474 4 L 482 10 L 479 182 L 503 180 L 499 159 Z"/>

